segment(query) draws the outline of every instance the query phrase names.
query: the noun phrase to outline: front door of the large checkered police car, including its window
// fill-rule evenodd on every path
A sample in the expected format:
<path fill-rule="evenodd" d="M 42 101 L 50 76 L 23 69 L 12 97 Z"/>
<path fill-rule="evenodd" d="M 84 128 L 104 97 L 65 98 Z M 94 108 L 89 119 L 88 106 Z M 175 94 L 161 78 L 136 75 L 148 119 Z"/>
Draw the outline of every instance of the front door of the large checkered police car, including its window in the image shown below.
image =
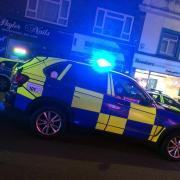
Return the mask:
<path fill-rule="evenodd" d="M 114 96 L 111 115 L 119 118 L 121 133 L 148 139 L 156 120 L 156 107 L 131 78 L 112 74 Z M 115 108 L 114 108 L 115 107 Z"/>

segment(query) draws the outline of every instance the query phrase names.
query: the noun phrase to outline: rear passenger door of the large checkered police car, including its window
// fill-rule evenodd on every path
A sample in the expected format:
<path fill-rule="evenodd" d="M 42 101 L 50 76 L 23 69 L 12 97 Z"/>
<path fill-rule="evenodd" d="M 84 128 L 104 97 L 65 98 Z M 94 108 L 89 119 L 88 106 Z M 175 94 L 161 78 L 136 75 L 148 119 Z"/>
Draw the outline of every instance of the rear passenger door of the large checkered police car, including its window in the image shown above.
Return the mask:
<path fill-rule="evenodd" d="M 107 92 L 107 74 L 98 73 L 90 66 L 74 66 L 74 94 L 72 98 L 73 123 L 90 129 L 104 130 L 104 99 Z M 98 122 L 98 120 L 102 122 Z"/>

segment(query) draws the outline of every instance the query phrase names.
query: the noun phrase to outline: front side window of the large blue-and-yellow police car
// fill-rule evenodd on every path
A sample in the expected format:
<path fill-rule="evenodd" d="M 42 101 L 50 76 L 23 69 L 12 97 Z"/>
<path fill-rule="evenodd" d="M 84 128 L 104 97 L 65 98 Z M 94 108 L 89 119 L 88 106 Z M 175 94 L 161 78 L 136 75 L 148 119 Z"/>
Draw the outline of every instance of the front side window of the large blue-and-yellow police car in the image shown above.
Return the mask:
<path fill-rule="evenodd" d="M 138 85 L 131 79 L 113 74 L 115 96 L 136 104 L 145 105 L 147 97 Z"/>

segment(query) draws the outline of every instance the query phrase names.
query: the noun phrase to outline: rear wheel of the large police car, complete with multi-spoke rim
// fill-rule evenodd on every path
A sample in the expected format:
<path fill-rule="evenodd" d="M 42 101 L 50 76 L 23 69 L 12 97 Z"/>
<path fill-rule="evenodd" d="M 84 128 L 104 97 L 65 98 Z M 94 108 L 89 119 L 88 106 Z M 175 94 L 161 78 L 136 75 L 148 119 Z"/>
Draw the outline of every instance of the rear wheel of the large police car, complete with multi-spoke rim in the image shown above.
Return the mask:
<path fill-rule="evenodd" d="M 66 129 L 66 116 L 56 107 L 42 107 L 33 113 L 31 127 L 36 135 L 44 138 L 62 135 Z"/>

